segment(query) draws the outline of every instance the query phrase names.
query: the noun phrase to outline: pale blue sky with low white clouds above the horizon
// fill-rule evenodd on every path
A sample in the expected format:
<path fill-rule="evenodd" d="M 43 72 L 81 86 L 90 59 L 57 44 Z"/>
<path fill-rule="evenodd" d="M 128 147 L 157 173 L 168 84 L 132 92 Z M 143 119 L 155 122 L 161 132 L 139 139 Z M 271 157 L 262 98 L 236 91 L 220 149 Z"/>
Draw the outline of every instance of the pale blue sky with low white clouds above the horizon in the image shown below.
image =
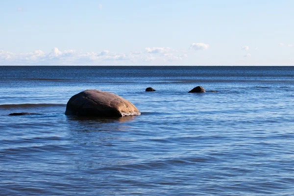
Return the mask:
<path fill-rule="evenodd" d="M 0 65 L 294 65 L 294 0 L 1 0 Z"/>

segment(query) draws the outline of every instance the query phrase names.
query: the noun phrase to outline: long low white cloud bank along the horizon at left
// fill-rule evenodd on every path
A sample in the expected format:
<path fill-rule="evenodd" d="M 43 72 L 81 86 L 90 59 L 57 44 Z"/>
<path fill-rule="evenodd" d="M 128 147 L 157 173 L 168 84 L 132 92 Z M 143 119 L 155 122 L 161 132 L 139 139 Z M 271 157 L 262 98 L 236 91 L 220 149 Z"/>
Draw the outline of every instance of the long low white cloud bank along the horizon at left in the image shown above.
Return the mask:
<path fill-rule="evenodd" d="M 120 61 L 127 61 L 125 64 L 138 65 L 152 62 L 152 64 L 162 65 L 167 61 L 183 60 L 187 56 L 184 51 L 172 50 L 168 47 L 146 48 L 143 52 L 129 53 L 108 50 L 83 52 L 75 49 L 59 50 L 55 47 L 48 53 L 40 49 L 27 53 L 0 50 L 0 65 L 114 65 Z"/>

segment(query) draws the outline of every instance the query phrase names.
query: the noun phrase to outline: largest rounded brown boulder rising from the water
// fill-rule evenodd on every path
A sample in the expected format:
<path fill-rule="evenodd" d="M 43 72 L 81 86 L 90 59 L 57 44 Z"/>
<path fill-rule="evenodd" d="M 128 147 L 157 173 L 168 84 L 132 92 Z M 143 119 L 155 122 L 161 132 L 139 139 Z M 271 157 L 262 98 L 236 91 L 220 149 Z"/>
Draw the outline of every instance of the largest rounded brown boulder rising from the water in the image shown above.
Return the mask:
<path fill-rule="evenodd" d="M 70 98 L 65 114 L 123 117 L 141 115 L 141 112 L 131 102 L 118 95 L 99 90 L 86 90 Z"/>

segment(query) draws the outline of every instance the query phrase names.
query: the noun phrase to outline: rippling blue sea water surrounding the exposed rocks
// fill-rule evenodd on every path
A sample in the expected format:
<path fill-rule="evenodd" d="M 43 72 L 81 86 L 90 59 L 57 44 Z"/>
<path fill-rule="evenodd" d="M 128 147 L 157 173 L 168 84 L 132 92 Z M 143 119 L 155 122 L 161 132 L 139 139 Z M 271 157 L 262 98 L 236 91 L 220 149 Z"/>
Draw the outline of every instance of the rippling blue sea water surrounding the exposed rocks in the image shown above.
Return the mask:
<path fill-rule="evenodd" d="M 87 89 L 142 115 L 66 116 Z M 0 195 L 293 196 L 293 99 L 289 66 L 0 66 Z"/>

